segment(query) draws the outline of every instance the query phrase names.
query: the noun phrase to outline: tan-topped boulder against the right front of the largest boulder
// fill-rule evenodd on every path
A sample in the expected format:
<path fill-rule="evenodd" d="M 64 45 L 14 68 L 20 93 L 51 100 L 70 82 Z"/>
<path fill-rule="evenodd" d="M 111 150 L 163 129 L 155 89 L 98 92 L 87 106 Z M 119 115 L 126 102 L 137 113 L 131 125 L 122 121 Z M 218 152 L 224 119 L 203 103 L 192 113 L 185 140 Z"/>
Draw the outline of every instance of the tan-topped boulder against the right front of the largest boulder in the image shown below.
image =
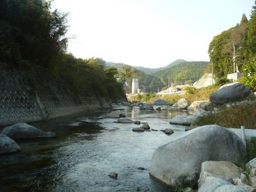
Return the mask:
<path fill-rule="evenodd" d="M 231 179 L 239 178 L 241 170 L 234 163 L 227 161 L 205 161 L 201 166 L 201 173 L 198 179 L 198 187 L 205 183 L 206 177 L 215 177 L 230 182 Z"/>

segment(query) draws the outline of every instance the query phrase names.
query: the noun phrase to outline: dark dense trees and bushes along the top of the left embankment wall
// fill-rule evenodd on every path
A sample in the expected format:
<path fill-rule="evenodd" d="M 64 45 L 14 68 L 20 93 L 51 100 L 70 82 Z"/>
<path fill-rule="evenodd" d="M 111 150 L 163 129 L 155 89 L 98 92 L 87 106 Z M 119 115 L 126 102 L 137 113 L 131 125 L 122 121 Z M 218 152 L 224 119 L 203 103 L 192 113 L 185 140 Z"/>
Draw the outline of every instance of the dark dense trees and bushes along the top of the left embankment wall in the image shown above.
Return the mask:
<path fill-rule="evenodd" d="M 123 97 L 116 68 L 106 67 L 99 58 L 80 59 L 66 53 L 67 14 L 53 10 L 51 2 L 0 1 L 0 62 L 25 71 L 28 78 L 38 67 L 50 71 L 76 95 L 86 90 L 111 100 Z"/>

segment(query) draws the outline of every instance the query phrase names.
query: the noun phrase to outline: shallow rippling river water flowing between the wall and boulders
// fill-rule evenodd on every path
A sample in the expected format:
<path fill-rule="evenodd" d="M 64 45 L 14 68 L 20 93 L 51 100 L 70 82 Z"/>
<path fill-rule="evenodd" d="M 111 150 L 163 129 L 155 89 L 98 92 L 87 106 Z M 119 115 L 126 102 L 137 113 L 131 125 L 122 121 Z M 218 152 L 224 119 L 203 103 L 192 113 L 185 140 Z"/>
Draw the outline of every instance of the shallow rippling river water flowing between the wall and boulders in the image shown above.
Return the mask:
<path fill-rule="evenodd" d="M 21 151 L 0 156 L 0 191 L 171 191 L 150 177 L 149 168 L 154 150 L 184 132 L 185 126 L 169 124 L 179 112 L 111 110 L 118 109 L 127 118 L 152 129 L 171 128 L 174 134 L 133 132 L 138 125 L 102 118 L 107 111 L 30 123 L 57 137 L 16 140 Z M 108 177 L 111 172 L 118 178 Z"/>

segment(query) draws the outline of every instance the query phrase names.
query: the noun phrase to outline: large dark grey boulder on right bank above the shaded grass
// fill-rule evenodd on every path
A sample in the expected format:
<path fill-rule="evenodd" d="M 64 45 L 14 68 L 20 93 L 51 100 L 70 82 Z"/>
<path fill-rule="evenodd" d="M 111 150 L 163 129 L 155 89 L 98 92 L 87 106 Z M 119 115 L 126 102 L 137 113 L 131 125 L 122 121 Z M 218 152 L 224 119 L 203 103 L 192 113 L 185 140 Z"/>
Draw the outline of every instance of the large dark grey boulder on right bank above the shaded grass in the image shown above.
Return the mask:
<path fill-rule="evenodd" d="M 210 101 L 222 105 L 227 102 L 241 101 L 249 96 L 251 90 L 242 83 L 229 83 L 220 87 L 217 91 L 210 95 Z"/>

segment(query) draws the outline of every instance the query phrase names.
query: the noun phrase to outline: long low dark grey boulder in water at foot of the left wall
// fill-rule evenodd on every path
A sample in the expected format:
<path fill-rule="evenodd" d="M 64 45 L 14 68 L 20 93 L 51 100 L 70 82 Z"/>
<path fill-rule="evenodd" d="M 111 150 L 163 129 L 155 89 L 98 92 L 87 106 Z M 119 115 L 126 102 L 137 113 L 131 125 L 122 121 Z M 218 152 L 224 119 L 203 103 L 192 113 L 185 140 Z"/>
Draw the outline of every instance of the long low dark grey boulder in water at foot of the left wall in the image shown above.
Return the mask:
<path fill-rule="evenodd" d="M 5 127 L 5 129 L 2 131 L 2 134 L 5 134 L 12 139 L 55 137 L 55 133 L 45 132 L 31 125 L 27 125 L 27 123 L 16 123 L 15 125 Z"/>

